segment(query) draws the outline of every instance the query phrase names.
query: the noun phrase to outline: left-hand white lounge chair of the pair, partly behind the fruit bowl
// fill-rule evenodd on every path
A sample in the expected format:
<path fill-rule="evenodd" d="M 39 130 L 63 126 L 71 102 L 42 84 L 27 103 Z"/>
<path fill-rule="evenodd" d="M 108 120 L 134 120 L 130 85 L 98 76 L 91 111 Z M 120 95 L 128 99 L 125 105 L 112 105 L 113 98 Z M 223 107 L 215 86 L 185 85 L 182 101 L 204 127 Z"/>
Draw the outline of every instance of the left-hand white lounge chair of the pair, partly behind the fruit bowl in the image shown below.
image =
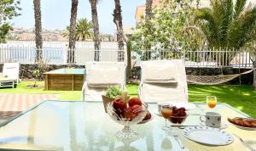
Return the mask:
<path fill-rule="evenodd" d="M 85 64 L 85 81 L 82 88 L 84 101 L 102 101 L 110 86 L 125 89 L 125 63 L 89 62 Z"/>

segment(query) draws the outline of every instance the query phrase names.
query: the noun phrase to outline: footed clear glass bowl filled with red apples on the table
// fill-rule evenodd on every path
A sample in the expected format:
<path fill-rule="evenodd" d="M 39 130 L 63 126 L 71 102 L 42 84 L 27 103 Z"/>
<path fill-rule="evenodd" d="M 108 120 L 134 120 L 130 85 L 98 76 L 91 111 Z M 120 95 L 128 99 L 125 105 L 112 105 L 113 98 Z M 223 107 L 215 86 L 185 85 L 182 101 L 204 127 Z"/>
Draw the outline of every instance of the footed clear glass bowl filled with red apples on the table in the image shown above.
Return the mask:
<path fill-rule="evenodd" d="M 128 107 L 122 102 L 108 103 L 107 111 L 111 119 L 124 126 L 124 128 L 121 131 L 118 131 L 115 135 L 120 140 L 137 138 L 138 134 L 131 130 L 130 126 L 141 122 L 148 113 L 145 104 Z"/>

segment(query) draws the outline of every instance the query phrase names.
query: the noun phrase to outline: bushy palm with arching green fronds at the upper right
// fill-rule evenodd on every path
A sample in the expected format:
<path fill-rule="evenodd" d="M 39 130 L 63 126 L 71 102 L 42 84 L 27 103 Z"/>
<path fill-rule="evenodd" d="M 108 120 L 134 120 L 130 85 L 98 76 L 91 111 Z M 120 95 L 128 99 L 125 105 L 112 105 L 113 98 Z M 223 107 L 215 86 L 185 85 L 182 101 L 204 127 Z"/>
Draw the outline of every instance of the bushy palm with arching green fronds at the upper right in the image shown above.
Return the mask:
<path fill-rule="evenodd" d="M 211 8 L 198 8 L 195 23 L 214 48 L 242 48 L 256 38 L 256 7 L 247 0 L 213 0 Z"/>

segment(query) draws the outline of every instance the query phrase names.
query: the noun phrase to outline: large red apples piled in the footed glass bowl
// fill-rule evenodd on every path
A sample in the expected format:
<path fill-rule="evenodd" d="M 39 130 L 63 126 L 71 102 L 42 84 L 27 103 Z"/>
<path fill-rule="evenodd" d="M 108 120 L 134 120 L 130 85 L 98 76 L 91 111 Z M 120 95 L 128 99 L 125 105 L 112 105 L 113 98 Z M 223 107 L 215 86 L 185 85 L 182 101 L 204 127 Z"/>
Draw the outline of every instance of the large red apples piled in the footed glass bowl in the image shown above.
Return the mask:
<path fill-rule="evenodd" d="M 122 120 L 133 120 L 143 111 L 143 103 L 139 98 L 130 98 L 123 92 L 113 100 L 113 109 L 115 114 Z M 149 113 L 150 114 L 150 113 Z M 151 115 L 147 114 L 144 119 L 148 120 Z"/>

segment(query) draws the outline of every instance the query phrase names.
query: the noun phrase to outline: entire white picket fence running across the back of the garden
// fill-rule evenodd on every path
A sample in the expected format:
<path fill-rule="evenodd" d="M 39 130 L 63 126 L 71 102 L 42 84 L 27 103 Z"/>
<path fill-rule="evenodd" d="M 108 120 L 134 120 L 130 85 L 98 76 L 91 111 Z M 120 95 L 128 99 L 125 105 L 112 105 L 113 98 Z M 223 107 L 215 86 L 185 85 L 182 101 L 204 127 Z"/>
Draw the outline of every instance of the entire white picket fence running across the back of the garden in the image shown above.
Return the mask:
<path fill-rule="evenodd" d="M 44 42 L 42 50 L 43 59 L 49 64 L 79 64 L 93 61 L 96 57 L 94 42 L 76 42 L 77 48 L 73 50 L 71 58 L 67 58 L 70 50 L 67 49 L 67 42 Z M 119 51 L 117 42 L 102 42 L 102 49 L 99 51 L 100 61 L 125 61 L 126 52 Z M 36 48 L 34 42 L 10 41 L 0 44 L 0 63 L 19 62 L 20 64 L 35 63 Z M 253 68 L 255 56 L 249 49 L 236 51 L 235 49 L 206 49 L 198 51 L 144 51 L 137 56 L 137 65 L 140 59 L 184 59 L 188 67 L 234 67 Z M 143 57 L 142 57 L 143 56 Z"/>

